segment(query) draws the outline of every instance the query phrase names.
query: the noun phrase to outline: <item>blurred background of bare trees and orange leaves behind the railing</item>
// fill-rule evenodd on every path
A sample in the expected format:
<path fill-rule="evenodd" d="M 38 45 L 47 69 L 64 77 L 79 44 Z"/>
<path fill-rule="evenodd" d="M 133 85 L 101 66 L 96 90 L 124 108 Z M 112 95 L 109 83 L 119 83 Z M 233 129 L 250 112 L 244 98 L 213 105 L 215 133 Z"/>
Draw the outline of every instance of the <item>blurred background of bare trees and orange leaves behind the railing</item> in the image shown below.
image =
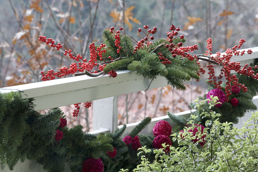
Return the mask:
<path fill-rule="evenodd" d="M 208 38 L 213 40 L 214 54 L 232 48 L 241 38 L 246 40 L 242 48 L 256 47 L 257 7 L 257 0 L 5 0 L 0 6 L 0 85 L 42 82 L 40 71 L 73 62 L 64 52 L 38 41 L 39 35 L 83 57 L 89 56 L 91 42 L 101 43 L 102 30 L 123 26 L 127 35 L 140 40 L 143 35 L 137 29 L 145 24 L 158 28 L 155 39 L 166 38 L 171 24 L 181 28 L 179 34 L 187 39 L 183 46 L 199 46 L 194 54 L 205 53 Z M 187 90 L 163 87 L 121 95 L 120 124 L 163 116 L 167 110 L 189 110 L 189 101 L 206 88 L 191 82 Z M 64 107 L 70 125 L 83 124 L 90 131 L 92 108 L 81 110 L 78 118 L 70 117 L 72 110 Z"/>

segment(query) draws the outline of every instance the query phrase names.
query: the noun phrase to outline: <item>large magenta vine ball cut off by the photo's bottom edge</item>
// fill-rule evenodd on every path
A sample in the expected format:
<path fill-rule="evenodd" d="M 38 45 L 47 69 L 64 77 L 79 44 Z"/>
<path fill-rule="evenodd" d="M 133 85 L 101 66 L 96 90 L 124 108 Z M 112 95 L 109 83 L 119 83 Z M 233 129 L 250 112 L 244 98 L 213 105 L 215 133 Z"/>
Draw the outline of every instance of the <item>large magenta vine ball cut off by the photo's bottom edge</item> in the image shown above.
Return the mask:
<path fill-rule="evenodd" d="M 82 172 L 102 172 L 104 171 L 104 165 L 100 158 L 94 159 L 89 157 L 83 162 Z"/>

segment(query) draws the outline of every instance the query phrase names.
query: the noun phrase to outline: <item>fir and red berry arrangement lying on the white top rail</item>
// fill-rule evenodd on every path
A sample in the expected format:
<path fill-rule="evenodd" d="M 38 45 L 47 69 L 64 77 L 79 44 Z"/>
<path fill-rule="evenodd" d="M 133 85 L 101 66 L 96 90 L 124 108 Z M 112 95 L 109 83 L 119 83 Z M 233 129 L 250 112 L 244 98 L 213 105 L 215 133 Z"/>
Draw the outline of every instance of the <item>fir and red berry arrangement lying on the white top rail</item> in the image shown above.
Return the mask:
<path fill-rule="evenodd" d="M 138 32 L 143 34 L 144 38 L 138 41 L 126 35 L 123 32 L 123 27 L 120 27 L 119 30 L 115 30 L 114 27 L 111 27 L 110 30 L 103 30 L 103 43 L 100 45 L 95 45 L 94 42 L 89 44 L 90 56 L 88 60 L 80 54 L 73 54 L 72 50 L 63 49 L 63 46 L 60 43 L 55 44 L 52 38 L 39 36 L 39 41 L 45 42 L 56 50 L 62 50 L 64 56 L 69 56 L 76 61 L 71 63 L 69 67 L 62 67 L 58 71 L 53 69 L 47 72 L 41 71 L 42 81 L 53 80 L 66 75 L 97 77 L 107 74 L 115 78 L 117 70 L 129 70 L 152 80 L 160 75 L 166 78 L 169 85 L 183 91 L 185 90 L 183 84 L 185 81 L 189 81 L 191 78 L 199 81 L 200 74 L 206 72 L 198 62 L 198 60 L 205 60 L 208 61 L 209 82 L 214 84 L 215 89 L 222 89 L 221 78 L 225 77 L 225 101 L 228 102 L 232 93 L 231 87 L 240 87 L 243 92 L 247 91 L 247 87 L 237 81 L 236 75 L 230 74 L 231 70 L 258 79 L 258 74 L 253 71 L 257 66 L 252 67 L 248 64 L 240 65 L 239 62 L 230 62 L 233 55 L 252 53 L 251 49 L 241 52 L 237 50 L 245 42 L 244 39 L 241 39 L 239 44 L 234 47 L 227 49 L 226 54 L 221 55 L 220 52 L 217 52 L 215 56 L 211 56 L 212 39 L 209 38 L 206 54 L 194 55 L 191 53 L 198 50 L 198 45 L 184 47 L 183 44 L 186 39 L 184 35 L 179 36 L 180 28 L 176 28 L 175 25 L 170 26 L 166 38 L 156 40 L 154 40 L 153 35 L 157 32 L 157 27 L 151 29 L 148 25 L 144 25 L 143 28 L 139 28 Z M 222 67 L 219 77 L 214 74 L 214 64 Z M 76 73 L 77 71 L 81 73 Z M 89 108 L 90 103 L 85 102 L 85 107 Z M 74 117 L 78 116 L 79 104 L 81 103 L 74 104 L 76 108 L 73 112 Z"/>

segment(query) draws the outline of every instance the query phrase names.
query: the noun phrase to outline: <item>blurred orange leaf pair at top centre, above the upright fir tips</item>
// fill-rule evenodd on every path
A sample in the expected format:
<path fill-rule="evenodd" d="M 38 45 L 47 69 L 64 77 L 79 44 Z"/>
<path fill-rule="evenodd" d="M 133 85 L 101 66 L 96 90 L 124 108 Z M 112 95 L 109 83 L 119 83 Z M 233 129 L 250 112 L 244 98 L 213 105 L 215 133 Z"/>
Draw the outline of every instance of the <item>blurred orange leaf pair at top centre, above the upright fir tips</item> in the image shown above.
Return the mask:
<path fill-rule="evenodd" d="M 130 20 L 133 21 L 134 23 L 137 24 L 141 24 L 139 20 L 137 20 L 136 18 L 133 18 L 133 13 L 132 10 L 135 8 L 135 6 L 131 6 L 131 7 L 127 7 L 127 9 L 124 11 L 124 22 L 129 26 L 129 31 L 132 30 L 132 24 L 130 23 Z M 113 19 L 114 22 L 119 21 L 122 22 L 123 20 L 123 13 L 122 11 L 118 12 L 116 9 L 114 9 L 114 11 L 112 11 L 109 14 Z"/>

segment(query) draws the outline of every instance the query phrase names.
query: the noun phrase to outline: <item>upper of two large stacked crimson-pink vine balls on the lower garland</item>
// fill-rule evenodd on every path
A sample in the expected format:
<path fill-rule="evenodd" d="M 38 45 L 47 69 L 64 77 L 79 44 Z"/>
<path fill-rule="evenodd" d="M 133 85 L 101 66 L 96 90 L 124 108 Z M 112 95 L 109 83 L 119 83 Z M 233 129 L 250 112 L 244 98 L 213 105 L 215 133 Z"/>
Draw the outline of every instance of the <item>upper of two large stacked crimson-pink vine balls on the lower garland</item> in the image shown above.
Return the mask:
<path fill-rule="evenodd" d="M 172 127 L 167 121 L 161 120 L 155 124 L 153 127 L 154 136 L 164 135 L 170 136 L 172 132 Z"/>

